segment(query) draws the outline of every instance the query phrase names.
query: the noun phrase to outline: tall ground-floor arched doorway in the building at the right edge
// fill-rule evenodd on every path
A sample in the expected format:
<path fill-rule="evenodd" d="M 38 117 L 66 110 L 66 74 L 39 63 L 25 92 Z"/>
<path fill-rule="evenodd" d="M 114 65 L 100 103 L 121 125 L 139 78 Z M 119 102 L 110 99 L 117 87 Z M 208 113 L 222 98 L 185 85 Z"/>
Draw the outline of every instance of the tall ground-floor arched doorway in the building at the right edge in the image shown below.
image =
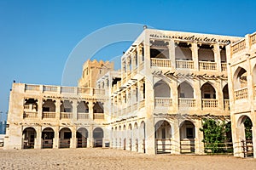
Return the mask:
<path fill-rule="evenodd" d="M 253 156 L 253 122 L 249 116 L 241 117 L 241 147 L 244 157 Z"/>

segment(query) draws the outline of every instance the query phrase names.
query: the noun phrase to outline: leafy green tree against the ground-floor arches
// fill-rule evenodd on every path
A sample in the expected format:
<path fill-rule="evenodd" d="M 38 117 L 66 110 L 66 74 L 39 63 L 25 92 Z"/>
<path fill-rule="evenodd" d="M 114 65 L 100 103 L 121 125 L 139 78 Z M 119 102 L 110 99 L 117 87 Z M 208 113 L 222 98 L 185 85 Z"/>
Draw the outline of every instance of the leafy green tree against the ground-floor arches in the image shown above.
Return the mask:
<path fill-rule="evenodd" d="M 205 143 L 205 150 L 208 152 L 211 150 L 212 153 L 223 153 L 226 152 L 225 140 L 226 133 L 230 131 L 230 126 L 222 121 L 215 121 L 213 119 L 203 119 L 203 126 L 200 130 L 204 133 L 204 139 L 202 142 Z"/>

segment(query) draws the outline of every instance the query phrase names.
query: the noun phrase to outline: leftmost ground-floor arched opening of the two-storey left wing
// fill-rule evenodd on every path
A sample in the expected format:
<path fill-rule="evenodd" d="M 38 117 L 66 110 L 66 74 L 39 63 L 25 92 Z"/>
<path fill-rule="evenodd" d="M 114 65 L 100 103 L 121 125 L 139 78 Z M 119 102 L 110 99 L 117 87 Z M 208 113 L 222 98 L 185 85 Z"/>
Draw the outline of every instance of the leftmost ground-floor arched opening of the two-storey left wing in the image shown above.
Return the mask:
<path fill-rule="evenodd" d="M 33 127 L 26 127 L 22 133 L 23 149 L 33 149 L 35 146 L 36 138 L 36 130 Z"/>

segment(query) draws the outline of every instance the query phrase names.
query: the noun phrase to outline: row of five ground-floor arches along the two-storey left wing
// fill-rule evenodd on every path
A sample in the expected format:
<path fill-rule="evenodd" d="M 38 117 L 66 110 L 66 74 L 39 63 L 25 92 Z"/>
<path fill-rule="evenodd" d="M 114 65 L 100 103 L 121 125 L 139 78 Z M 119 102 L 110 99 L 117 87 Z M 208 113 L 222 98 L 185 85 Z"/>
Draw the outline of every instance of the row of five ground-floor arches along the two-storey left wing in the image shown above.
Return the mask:
<path fill-rule="evenodd" d="M 41 148 L 54 148 L 55 133 L 59 133 L 57 136 L 59 138 L 59 148 L 70 148 L 73 132 L 69 127 L 63 127 L 59 132 L 55 132 L 52 127 L 45 127 L 41 135 Z M 94 147 L 102 147 L 102 139 L 104 137 L 103 129 L 101 127 L 96 127 L 92 133 Z M 22 132 L 22 148 L 33 149 L 38 136 L 37 130 L 34 127 L 26 127 Z M 88 145 L 88 130 L 85 127 L 79 127 L 76 131 L 75 138 L 77 148 L 86 148 Z"/>

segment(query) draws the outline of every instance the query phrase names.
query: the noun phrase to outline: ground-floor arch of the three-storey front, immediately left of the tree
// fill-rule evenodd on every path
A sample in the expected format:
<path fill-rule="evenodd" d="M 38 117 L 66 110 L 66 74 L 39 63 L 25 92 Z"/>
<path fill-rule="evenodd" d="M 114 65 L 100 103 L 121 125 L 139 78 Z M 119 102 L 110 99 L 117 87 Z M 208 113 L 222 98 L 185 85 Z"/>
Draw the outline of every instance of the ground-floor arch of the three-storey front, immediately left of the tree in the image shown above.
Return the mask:
<path fill-rule="evenodd" d="M 193 122 L 184 121 L 180 126 L 180 152 L 195 152 L 195 125 Z"/>

